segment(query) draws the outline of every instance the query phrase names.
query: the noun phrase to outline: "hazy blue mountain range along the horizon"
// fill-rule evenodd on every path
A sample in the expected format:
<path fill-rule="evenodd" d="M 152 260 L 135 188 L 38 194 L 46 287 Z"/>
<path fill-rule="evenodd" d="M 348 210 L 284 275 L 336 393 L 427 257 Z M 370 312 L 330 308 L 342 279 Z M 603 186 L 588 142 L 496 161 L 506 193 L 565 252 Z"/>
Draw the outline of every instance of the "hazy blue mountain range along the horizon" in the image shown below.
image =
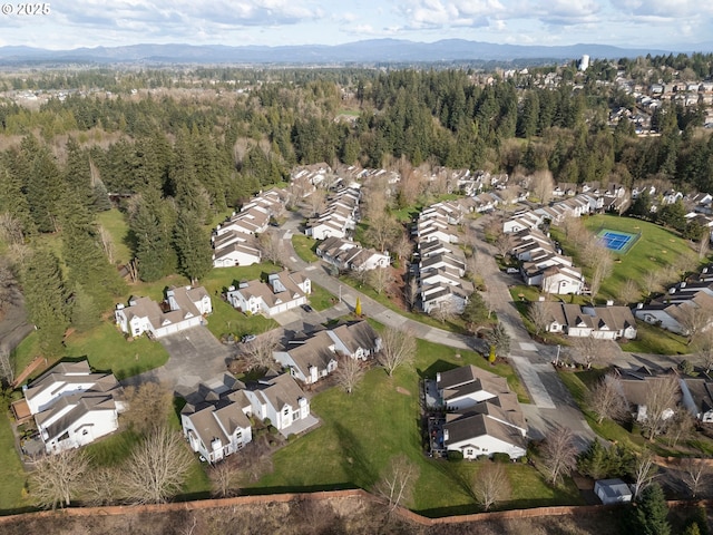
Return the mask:
<path fill-rule="evenodd" d="M 705 47 L 711 49 L 712 47 Z M 705 50 L 705 48 L 697 48 Z M 90 64 L 416 64 L 438 61 L 516 61 L 594 58 L 623 58 L 662 55 L 685 50 L 619 48 L 607 45 L 564 47 L 495 45 L 490 42 L 446 39 L 413 42 L 399 39 L 372 39 L 345 45 L 245 46 L 219 45 L 131 45 L 126 47 L 45 50 L 31 47 L 0 47 L 0 65 L 26 62 Z"/>

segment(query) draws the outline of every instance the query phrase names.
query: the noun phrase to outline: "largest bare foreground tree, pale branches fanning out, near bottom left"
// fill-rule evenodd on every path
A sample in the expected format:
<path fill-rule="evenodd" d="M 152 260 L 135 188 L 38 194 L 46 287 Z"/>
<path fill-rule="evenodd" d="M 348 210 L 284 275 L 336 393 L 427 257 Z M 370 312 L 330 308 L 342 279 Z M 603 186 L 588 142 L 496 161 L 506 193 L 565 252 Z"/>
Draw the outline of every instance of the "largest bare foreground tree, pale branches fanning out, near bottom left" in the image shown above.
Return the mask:
<path fill-rule="evenodd" d="M 194 459 L 179 432 L 158 427 L 121 467 L 123 494 L 136 504 L 166 502 L 186 480 Z"/>

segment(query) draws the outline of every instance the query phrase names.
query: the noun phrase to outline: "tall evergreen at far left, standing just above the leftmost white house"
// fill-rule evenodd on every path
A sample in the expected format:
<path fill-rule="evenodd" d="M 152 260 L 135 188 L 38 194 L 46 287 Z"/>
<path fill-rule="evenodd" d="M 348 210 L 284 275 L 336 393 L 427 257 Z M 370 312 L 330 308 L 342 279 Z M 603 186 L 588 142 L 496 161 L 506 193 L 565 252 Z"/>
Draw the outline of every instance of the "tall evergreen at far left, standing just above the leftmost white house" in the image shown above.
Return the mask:
<path fill-rule="evenodd" d="M 27 260 L 22 289 L 28 315 L 37 328 L 40 350 L 46 356 L 60 354 L 69 318 L 65 280 L 59 260 L 52 252 L 36 251 Z"/>

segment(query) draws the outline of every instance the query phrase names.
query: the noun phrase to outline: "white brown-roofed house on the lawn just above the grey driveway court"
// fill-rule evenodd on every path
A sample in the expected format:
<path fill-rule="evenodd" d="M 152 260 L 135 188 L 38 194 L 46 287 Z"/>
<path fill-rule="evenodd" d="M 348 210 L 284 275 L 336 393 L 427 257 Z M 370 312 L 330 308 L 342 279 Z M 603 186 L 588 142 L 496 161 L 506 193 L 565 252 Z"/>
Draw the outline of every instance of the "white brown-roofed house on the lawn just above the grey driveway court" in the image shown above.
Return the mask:
<path fill-rule="evenodd" d="M 157 303 L 149 298 L 129 299 L 129 305 L 117 304 L 116 324 L 130 337 L 147 333 L 153 338 L 205 324 L 204 317 L 213 312 L 213 303 L 205 288 L 179 286 L 166 291 L 166 299 Z"/>

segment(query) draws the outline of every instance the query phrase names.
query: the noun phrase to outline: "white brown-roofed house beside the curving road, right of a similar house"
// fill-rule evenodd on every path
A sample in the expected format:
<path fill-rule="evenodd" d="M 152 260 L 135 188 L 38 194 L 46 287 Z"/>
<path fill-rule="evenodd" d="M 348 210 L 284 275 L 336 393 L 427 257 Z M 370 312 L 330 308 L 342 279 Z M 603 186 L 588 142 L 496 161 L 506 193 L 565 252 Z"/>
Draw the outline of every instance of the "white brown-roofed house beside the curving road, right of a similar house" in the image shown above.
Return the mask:
<path fill-rule="evenodd" d="M 267 275 L 267 283 L 255 280 L 229 286 L 226 298 L 233 308 L 271 318 L 307 302 L 312 281 L 304 272 L 282 271 Z"/>

